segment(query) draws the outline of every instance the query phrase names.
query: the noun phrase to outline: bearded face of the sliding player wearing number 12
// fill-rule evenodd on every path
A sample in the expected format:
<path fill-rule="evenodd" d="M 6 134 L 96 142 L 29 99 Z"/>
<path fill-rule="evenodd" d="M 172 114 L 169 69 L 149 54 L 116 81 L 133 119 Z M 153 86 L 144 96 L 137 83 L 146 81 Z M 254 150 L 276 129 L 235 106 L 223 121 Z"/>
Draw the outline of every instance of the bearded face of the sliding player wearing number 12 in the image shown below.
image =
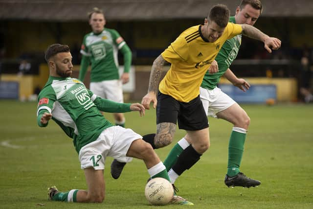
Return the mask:
<path fill-rule="evenodd" d="M 72 75 L 73 65 L 70 52 L 56 54 L 53 62 L 56 76 L 69 77 Z"/>

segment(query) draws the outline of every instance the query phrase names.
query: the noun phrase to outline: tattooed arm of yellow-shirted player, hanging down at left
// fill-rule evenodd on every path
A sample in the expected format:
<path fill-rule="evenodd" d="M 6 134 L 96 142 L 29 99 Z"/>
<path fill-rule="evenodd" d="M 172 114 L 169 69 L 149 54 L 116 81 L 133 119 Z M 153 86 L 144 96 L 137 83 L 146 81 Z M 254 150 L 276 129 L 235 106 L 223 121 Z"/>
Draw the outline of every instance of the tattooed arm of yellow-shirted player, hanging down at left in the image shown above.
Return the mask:
<path fill-rule="evenodd" d="M 163 69 L 163 66 L 167 62 L 164 60 L 162 55 L 159 55 L 156 60 L 153 62 L 152 70 L 150 73 L 150 80 L 149 80 L 149 88 L 148 93 L 142 98 L 141 104 L 147 109 L 150 109 L 150 103 L 153 102 L 153 108 L 156 108 L 157 100 L 156 100 L 156 93 L 158 90 L 158 85 L 161 79 L 166 74 L 166 71 Z"/>

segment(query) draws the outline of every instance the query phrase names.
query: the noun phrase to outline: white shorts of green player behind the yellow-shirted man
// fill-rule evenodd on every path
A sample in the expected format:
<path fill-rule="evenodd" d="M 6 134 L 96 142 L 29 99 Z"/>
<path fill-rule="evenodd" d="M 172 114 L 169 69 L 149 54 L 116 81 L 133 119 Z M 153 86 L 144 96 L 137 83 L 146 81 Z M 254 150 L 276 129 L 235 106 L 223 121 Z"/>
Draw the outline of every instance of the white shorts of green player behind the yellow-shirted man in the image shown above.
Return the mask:
<path fill-rule="evenodd" d="M 217 117 L 216 114 L 226 110 L 236 102 L 218 87 L 208 90 L 200 87 L 200 98 L 207 116 Z"/>

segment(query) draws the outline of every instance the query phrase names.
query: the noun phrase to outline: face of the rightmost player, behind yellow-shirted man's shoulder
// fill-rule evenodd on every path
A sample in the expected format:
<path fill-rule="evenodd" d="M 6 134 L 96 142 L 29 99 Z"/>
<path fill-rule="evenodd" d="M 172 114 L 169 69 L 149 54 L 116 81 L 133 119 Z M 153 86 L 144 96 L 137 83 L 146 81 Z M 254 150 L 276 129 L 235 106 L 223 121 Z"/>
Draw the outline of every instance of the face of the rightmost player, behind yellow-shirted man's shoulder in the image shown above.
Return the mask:
<path fill-rule="evenodd" d="M 260 10 L 254 9 L 250 4 L 246 4 L 246 6 L 242 10 L 237 7 L 235 19 L 237 24 L 254 25 L 259 16 Z"/>

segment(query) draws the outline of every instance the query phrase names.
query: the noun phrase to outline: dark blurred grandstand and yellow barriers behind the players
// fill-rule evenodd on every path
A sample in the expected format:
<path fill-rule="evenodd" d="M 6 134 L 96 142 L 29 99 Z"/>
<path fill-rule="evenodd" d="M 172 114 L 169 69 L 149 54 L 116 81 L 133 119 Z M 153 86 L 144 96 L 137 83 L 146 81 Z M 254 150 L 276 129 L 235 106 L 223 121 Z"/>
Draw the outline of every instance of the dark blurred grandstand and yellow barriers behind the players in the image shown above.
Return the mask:
<path fill-rule="evenodd" d="M 80 46 L 91 31 L 88 12 L 102 9 L 105 27 L 116 29 L 133 52 L 131 82 L 125 100 L 147 92 L 151 65 L 186 28 L 201 24 L 217 3 L 231 15 L 240 0 L 0 0 L 0 99 L 35 100 L 48 78 L 47 46 L 71 48 L 78 77 Z M 263 43 L 243 37 L 230 69 L 252 88 L 241 93 L 226 80 L 220 87 L 237 102 L 313 101 L 313 0 L 262 0 L 263 13 L 254 25 L 282 40 L 267 53 Z M 119 59 L 123 65 L 122 56 Z M 88 86 L 89 76 L 85 83 Z"/>

